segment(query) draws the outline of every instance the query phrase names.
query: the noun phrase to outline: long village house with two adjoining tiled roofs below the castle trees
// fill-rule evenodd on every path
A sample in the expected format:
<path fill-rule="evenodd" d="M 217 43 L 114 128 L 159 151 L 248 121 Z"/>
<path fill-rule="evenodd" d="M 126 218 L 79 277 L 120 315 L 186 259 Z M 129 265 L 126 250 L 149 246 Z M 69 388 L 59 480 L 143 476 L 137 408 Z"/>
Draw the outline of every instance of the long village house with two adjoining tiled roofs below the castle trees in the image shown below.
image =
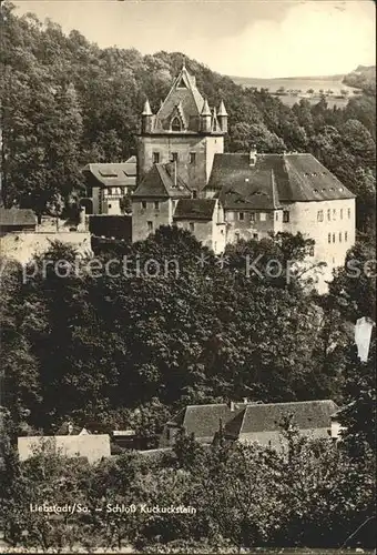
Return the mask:
<path fill-rule="evenodd" d="M 221 434 L 230 442 L 257 442 L 279 448 L 282 430 L 287 422 L 313 438 L 336 437 L 336 418 L 333 424 L 332 416 L 337 411 L 337 405 L 329 400 L 266 404 L 244 400 L 241 403 L 188 405 L 165 424 L 160 447 L 172 446 L 177 434 L 184 433 L 202 444 L 212 444 Z"/>

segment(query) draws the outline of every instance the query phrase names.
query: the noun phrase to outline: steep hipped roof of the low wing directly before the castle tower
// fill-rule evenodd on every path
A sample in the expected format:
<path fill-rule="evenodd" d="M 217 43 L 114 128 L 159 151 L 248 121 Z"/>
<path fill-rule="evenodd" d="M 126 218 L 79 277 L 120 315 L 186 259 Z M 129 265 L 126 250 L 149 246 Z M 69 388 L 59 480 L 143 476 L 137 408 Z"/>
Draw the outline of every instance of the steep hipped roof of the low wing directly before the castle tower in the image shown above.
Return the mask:
<path fill-rule="evenodd" d="M 191 196 L 188 186 L 176 175 L 175 163 L 157 163 L 144 175 L 133 198 L 179 199 Z"/>

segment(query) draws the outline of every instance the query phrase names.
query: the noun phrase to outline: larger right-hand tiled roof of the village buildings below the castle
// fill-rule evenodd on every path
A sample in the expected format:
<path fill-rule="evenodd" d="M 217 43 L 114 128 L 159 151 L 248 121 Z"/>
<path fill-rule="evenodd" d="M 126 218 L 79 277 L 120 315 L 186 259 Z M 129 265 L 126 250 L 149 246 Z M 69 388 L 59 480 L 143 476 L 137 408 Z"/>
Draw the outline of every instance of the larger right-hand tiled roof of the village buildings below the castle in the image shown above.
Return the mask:
<path fill-rule="evenodd" d="M 225 434 L 279 432 L 282 421 L 292 417 L 299 430 L 317 430 L 330 425 L 332 415 L 338 411 L 334 401 L 303 401 L 295 403 L 248 404 L 241 414 L 225 425 Z"/>

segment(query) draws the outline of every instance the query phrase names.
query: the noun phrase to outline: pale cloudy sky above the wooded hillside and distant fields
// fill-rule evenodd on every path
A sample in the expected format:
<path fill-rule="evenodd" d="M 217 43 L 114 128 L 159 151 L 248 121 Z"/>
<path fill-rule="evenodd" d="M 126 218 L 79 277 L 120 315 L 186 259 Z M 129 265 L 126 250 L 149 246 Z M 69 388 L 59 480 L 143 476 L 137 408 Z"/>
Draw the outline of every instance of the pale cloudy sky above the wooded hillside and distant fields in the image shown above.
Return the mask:
<path fill-rule="evenodd" d="M 100 47 L 183 52 L 253 78 L 348 73 L 376 63 L 373 0 L 12 0 Z"/>

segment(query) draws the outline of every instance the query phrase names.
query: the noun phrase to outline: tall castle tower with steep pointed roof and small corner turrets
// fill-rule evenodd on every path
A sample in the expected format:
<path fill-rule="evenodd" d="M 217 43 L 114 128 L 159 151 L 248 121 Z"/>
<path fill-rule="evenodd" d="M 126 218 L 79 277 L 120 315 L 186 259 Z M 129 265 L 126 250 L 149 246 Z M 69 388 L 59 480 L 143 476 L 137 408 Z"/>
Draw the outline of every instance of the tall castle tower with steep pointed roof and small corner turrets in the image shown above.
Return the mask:
<path fill-rule="evenodd" d="M 155 163 L 173 161 L 180 179 L 200 195 L 208 182 L 214 155 L 224 152 L 226 131 L 220 119 L 217 122 L 213 124 L 208 102 L 183 65 L 156 114 L 145 102 L 137 137 L 137 183 Z"/>

